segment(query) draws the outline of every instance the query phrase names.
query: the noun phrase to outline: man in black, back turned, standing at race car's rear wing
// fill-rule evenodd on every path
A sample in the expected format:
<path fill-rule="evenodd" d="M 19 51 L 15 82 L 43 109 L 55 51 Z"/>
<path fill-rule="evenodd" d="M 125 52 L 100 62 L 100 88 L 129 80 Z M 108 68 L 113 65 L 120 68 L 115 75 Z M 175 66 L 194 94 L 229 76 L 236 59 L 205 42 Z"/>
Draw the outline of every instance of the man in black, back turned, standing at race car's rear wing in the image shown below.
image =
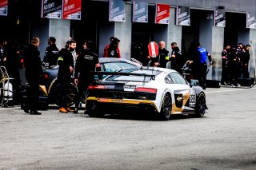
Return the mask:
<path fill-rule="evenodd" d="M 91 71 L 101 70 L 98 55 L 94 53 L 94 42 L 86 41 L 83 45 L 83 50 L 78 55 L 74 71 L 74 83 L 78 85 L 78 97 L 76 97 L 74 113 L 78 113 L 78 106 L 81 101 L 83 93 L 92 81 L 94 81 L 94 74 Z M 78 76 L 79 73 L 79 76 Z M 102 79 L 100 76 L 99 79 Z"/>

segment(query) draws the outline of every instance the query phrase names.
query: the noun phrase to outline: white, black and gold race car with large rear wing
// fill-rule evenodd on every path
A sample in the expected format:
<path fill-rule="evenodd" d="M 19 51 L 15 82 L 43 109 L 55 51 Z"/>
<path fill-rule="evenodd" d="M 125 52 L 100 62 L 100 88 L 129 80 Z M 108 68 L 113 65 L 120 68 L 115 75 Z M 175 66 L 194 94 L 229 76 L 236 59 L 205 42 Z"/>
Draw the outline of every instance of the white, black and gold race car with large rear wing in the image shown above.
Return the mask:
<path fill-rule="evenodd" d="M 90 117 L 105 113 L 136 110 L 157 113 L 163 120 L 174 114 L 206 113 L 206 95 L 200 86 L 189 83 L 173 69 L 123 69 L 108 74 L 102 81 L 94 81 L 86 93 L 86 110 Z"/>

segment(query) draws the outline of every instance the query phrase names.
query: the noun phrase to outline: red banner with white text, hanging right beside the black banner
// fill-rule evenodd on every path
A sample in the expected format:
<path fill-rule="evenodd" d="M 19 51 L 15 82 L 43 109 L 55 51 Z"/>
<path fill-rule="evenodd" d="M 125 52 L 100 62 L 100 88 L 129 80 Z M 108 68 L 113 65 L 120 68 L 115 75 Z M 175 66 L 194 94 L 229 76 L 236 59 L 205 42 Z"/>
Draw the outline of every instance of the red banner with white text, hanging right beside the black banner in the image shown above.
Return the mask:
<path fill-rule="evenodd" d="M 62 19 L 81 20 L 82 0 L 64 0 Z"/>

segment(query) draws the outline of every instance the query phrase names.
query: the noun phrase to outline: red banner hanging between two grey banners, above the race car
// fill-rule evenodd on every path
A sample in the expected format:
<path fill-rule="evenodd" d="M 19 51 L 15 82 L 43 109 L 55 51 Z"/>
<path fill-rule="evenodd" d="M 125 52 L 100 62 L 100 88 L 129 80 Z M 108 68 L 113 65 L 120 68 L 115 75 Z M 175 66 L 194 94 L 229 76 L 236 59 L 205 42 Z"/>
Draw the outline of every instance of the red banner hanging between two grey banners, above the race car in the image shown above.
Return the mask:
<path fill-rule="evenodd" d="M 155 23 L 169 24 L 170 5 L 157 4 L 155 7 Z"/>

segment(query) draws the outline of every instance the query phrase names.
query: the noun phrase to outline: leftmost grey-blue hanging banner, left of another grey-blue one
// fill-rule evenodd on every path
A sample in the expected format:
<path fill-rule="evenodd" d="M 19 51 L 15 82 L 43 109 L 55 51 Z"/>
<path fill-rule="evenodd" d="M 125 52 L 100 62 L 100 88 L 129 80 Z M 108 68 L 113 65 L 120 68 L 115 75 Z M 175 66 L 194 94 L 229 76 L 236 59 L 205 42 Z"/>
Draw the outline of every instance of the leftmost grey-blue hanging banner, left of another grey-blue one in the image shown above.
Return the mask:
<path fill-rule="evenodd" d="M 125 22 L 126 21 L 126 3 L 120 0 L 110 0 L 109 4 L 109 21 Z"/>

